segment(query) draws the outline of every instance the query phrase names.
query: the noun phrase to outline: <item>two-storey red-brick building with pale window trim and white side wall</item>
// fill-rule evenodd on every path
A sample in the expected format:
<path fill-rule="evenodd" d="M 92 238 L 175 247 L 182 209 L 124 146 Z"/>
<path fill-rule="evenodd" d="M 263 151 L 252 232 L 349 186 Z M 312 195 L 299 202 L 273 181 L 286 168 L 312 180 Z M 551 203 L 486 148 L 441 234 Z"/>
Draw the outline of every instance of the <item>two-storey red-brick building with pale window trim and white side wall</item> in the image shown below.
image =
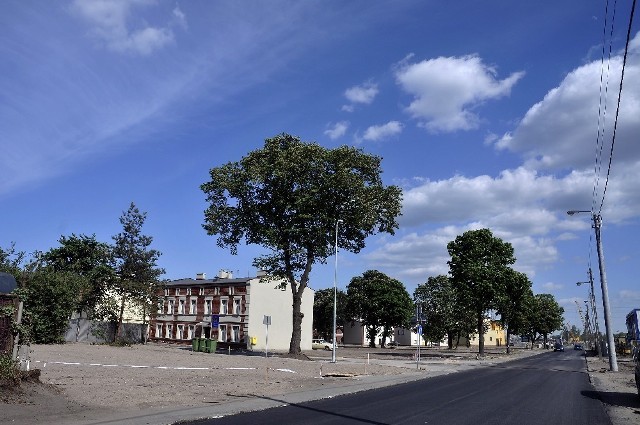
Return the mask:
<path fill-rule="evenodd" d="M 218 344 L 252 350 L 288 350 L 293 330 L 292 296 L 279 281 L 262 281 L 264 275 L 234 278 L 221 271 L 213 279 L 167 282 L 158 312 L 150 321 L 149 340 L 191 344 L 193 338 L 217 339 Z M 313 297 L 302 297 L 300 348 L 311 349 Z"/>

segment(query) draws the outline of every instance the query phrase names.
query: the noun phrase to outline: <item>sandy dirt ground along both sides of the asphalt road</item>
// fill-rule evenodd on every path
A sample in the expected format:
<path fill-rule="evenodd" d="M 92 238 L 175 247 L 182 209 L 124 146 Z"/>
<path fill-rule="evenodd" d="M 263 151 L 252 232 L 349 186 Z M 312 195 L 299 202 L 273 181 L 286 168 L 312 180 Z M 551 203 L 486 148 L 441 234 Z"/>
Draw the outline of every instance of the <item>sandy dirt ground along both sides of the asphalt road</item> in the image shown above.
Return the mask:
<path fill-rule="evenodd" d="M 446 350 L 445 350 L 446 351 Z M 339 348 L 306 352 L 308 360 L 277 353 L 228 354 L 191 352 L 172 345 L 65 344 L 32 347 L 31 368 L 41 384 L 23 384 L 0 397 L 0 423 L 90 423 L 114 414 L 167 408 L 198 408 L 256 397 L 349 385 L 362 377 L 411 375 L 412 379 L 451 373 L 536 354 L 529 350 L 506 356 L 502 351 L 477 360 L 470 352 L 426 350 L 419 368 L 415 350 Z M 604 391 L 614 425 L 636 424 L 640 403 L 630 362 L 606 372 L 606 359 L 590 358 L 588 367 L 598 391 Z M 419 369 L 419 370 L 417 370 Z M 604 369 L 604 371 L 603 371 Z"/>

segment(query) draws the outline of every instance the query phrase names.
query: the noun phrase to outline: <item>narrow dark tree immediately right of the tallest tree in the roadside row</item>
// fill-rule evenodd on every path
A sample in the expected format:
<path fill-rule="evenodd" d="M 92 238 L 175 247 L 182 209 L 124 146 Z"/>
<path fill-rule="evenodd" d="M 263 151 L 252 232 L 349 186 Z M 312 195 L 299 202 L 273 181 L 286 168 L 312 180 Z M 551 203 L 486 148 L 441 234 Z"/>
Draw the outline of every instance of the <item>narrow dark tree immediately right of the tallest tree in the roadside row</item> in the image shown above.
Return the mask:
<path fill-rule="evenodd" d="M 503 275 L 504 287 L 498 295 L 496 310 L 500 321 L 507 329 L 507 353 L 510 352 L 511 335 L 522 333 L 526 329 L 526 314 L 533 297 L 531 281 L 526 274 L 507 269 Z"/>

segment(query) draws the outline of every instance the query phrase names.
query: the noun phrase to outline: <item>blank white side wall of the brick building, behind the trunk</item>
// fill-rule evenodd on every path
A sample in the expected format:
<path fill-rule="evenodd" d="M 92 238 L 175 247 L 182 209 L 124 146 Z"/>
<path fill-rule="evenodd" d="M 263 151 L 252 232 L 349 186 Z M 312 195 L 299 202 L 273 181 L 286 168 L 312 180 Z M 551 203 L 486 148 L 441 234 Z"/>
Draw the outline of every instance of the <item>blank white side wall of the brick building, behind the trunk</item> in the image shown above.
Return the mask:
<path fill-rule="evenodd" d="M 259 278 L 251 280 L 248 288 L 249 338 L 256 337 L 253 345 L 256 351 L 264 351 L 266 347 L 266 326 L 264 316 L 271 316 L 269 326 L 269 351 L 289 351 L 291 332 L 293 330 L 292 295 L 291 288 L 285 290 L 276 288 L 277 282 L 260 282 Z M 300 348 L 311 350 L 313 334 L 313 298 L 314 291 L 305 288 L 302 293 L 301 311 L 302 336 Z"/>

